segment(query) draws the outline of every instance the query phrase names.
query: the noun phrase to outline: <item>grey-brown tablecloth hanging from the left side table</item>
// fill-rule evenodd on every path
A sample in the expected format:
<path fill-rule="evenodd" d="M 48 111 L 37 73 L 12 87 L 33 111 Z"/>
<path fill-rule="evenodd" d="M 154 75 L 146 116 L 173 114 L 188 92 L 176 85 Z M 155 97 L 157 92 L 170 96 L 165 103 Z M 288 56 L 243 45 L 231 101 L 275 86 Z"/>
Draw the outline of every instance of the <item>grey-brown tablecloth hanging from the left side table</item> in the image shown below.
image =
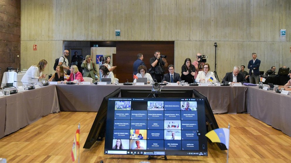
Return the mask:
<path fill-rule="evenodd" d="M 5 135 L 15 132 L 50 113 L 60 111 L 54 85 L 18 92 L 6 96 L 5 99 Z"/>

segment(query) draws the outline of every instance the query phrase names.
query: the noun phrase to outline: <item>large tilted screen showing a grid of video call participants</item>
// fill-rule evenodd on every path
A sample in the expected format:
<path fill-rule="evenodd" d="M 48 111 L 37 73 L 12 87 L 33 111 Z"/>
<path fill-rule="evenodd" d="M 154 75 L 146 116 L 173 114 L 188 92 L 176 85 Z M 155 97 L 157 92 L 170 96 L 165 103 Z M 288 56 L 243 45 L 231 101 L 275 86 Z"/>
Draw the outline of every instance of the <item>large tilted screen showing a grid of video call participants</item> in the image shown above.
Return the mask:
<path fill-rule="evenodd" d="M 104 154 L 207 156 L 204 98 L 109 98 Z"/>

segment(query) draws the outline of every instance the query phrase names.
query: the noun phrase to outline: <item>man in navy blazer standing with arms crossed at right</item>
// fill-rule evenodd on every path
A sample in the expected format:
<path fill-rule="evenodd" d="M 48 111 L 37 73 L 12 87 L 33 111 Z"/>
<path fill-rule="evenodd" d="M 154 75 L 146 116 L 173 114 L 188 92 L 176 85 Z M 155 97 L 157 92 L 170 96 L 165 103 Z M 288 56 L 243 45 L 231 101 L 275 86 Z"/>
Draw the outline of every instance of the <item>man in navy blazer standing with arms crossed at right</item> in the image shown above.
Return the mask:
<path fill-rule="evenodd" d="M 248 73 L 250 75 L 250 83 L 253 84 L 259 84 L 260 81 L 260 64 L 261 61 L 257 59 L 257 53 L 252 54 L 253 59 L 248 62 L 248 69 L 250 69 L 250 72 Z M 255 83 L 254 83 L 255 81 Z"/>

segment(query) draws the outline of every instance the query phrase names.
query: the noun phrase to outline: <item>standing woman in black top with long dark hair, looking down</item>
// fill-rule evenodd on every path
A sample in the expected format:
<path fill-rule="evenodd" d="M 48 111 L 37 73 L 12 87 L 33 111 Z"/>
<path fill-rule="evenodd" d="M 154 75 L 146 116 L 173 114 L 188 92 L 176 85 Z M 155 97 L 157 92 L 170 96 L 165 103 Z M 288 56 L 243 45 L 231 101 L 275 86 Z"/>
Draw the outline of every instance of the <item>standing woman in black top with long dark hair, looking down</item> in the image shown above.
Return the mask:
<path fill-rule="evenodd" d="M 186 58 L 184 65 L 182 65 L 181 80 L 185 80 L 188 83 L 194 83 L 195 66 L 192 65 L 191 59 Z"/>

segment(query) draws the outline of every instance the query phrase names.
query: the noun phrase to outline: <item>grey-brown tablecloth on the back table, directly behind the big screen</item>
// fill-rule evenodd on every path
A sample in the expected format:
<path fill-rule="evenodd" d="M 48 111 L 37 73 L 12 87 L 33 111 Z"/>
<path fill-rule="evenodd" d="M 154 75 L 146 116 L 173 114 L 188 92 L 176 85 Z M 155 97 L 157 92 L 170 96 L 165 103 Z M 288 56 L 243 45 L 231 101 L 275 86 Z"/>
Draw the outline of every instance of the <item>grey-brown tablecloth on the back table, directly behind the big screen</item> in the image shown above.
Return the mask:
<path fill-rule="evenodd" d="M 104 96 L 117 88 L 151 89 L 152 86 L 56 85 L 61 111 L 98 112 Z M 214 114 L 246 112 L 247 86 L 161 86 L 161 89 L 196 89 L 209 100 Z"/>

